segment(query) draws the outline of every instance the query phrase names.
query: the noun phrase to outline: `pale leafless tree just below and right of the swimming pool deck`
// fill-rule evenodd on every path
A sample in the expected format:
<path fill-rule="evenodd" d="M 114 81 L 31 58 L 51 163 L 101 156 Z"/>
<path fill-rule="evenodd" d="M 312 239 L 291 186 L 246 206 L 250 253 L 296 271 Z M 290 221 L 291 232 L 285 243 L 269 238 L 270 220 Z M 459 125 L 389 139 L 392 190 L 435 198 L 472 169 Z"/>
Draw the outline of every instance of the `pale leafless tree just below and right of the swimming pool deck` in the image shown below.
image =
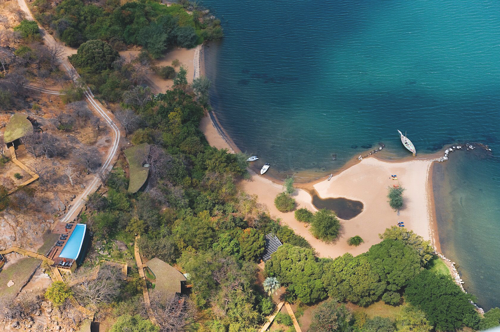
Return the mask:
<path fill-rule="evenodd" d="M 75 274 L 78 283 L 71 289 L 76 299 L 97 306 L 111 303 L 121 292 L 121 272 L 116 267 L 102 265 L 97 273 L 93 269 Z"/>

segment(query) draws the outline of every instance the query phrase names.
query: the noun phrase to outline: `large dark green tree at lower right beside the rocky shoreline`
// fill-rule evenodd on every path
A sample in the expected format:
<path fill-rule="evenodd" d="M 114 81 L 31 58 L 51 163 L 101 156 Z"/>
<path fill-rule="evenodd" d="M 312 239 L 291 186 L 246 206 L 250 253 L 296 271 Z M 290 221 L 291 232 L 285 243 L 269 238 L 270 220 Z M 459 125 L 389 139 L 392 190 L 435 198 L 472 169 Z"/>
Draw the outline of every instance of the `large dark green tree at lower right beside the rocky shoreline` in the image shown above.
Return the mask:
<path fill-rule="evenodd" d="M 462 292 L 450 276 L 423 270 L 409 282 L 404 296 L 410 304 L 425 313 L 438 331 L 454 331 L 463 324 L 474 325 L 477 322 L 473 319 L 477 313 L 470 303 L 470 295 Z"/>

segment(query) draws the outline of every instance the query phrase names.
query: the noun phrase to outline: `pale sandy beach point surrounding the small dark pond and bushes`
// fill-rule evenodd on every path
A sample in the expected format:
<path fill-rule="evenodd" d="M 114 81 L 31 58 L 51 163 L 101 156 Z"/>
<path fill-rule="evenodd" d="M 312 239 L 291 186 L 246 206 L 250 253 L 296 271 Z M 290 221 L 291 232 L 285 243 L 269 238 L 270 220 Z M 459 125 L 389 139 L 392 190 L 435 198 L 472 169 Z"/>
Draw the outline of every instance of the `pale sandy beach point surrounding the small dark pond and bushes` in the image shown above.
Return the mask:
<path fill-rule="evenodd" d="M 248 181 L 240 181 L 238 185 L 245 192 L 257 195 L 259 203 L 268 208 L 272 217 L 281 219 L 283 224 L 309 241 L 319 257 L 335 258 L 347 252 L 352 255 L 366 252 L 380 242 L 378 234 L 396 225 L 398 220 L 404 222 L 406 229 L 428 240 L 431 207 L 427 189 L 430 166 L 431 162 L 427 160 L 396 163 L 366 158 L 333 176 L 330 181 L 325 179 L 312 185 L 321 198 L 344 197 L 361 201 L 364 205 L 363 211 L 356 217 L 348 221 L 340 220 L 340 236 L 333 243 L 315 239 L 303 223 L 295 220 L 293 212 L 281 213 L 274 207 L 274 197 L 282 191 L 281 185 L 256 174 L 252 174 Z M 391 174 L 397 174 L 398 180 L 390 179 Z M 396 183 L 406 189 L 404 207 L 399 215 L 389 207 L 386 198 L 387 188 Z M 307 191 L 297 189 L 294 198 L 297 208 L 316 211 Z M 347 245 L 347 239 L 354 235 L 359 235 L 364 243 L 358 247 Z"/>

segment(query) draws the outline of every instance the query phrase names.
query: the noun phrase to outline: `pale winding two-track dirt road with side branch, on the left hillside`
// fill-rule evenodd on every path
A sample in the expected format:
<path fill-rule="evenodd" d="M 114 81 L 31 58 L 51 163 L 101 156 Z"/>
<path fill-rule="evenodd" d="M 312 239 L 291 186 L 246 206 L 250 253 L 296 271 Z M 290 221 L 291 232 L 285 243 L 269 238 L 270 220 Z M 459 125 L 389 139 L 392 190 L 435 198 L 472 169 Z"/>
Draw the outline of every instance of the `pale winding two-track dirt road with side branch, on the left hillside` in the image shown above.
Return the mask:
<path fill-rule="evenodd" d="M 17 3 L 19 4 L 19 8 L 25 13 L 26 19 L 29 20 L 34 20 L 33 15 L 31 14 L 31 11 L 29 10 L 28 6 L 26 5 L 26 2 L 24 0 L 17 0 Z M 52 46 L 55 44 L 58 44 L 58 42 L 42 27 L 38 24 L 38 28 L 40 29 L 40 34 L 42 36 L 43 42 L 47 46 Z M 79 78 L 79 75 L 76 73 L 76 69 L 71 65 L 69 60 L 67 59 L 67 56 L 74 53 L 74 49 L 71 49 L 69 47 L 64 47 L 64 54 L 61 59 L 61 64 L 64 67 L 64 70 L 68 73 L 70 77 L 76 77 Z M 53 95 L 61 95 L 59 91 L 53 91 L 53 90 L 48 90 L 45 88 L 37 87 L 34 85 L 27 85 L 26 88 L 31 89 L 31 90 L 36 90 L 39 92 L 43 93 L 48 93 L 48 94 L 53 94 Z M 121 133 L 119 128 L 116 126 L 116 124 L 113 122 L 110 112 L 102 106 L 102 104 L 94 99 L 94 95 L 92 91 L 87 87 L 87 90 L 85 91 L 85 98 L 86 100 L 92 105 L 92 107 L 95 109 L 95 111 L 98 113 L 98 115 L 104 119 L 106 124 L 109 126 L 113 133 L 113 144 L 111 148 L 109 149 L 109 152 L 106 156 L 106 159 L 104 163 L 102 164 L 101 168 L 99 169 L 99 173 L 105 174 L 109 172 L 113 166 L 113 160 L 116 157 L 116 152 L 118 151 L 118 145 L 121 137 Z M 62 217 L 60 222 L 66 223 L 68 221 L 72 221 L 76 219 L 78 216 L 80 210 L 83 208 L 85 205 L 85 200 L 86 197 L 95 192 L 101 184 L 101 181 L 99 177 L 95 176 L 94 179 L 90 182 L 89 185 L 85 188 L 85 190 L 78 195 L 71 206 L 71 208 L 68 210 L 68 212 Z M 55 226 L 56 224 L 54 224 Z"/>

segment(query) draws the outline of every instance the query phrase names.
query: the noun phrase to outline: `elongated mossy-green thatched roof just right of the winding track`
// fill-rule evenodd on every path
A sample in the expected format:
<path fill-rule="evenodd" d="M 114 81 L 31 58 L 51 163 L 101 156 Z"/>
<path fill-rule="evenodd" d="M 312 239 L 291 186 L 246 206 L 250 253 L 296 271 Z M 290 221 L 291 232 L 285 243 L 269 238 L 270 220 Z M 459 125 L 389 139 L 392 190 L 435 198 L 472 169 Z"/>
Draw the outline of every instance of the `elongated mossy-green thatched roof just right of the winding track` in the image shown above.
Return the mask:
<path fill-rule="evenodd" d="M 130 181 L 128 182 L 128 192 L 136 193 L 146 182 L 149 174 L 149 167 L 143 167 L 144 161 L 149 154 L 149 144 L 142 143 L 123 150 L 128 161 Z"/>

